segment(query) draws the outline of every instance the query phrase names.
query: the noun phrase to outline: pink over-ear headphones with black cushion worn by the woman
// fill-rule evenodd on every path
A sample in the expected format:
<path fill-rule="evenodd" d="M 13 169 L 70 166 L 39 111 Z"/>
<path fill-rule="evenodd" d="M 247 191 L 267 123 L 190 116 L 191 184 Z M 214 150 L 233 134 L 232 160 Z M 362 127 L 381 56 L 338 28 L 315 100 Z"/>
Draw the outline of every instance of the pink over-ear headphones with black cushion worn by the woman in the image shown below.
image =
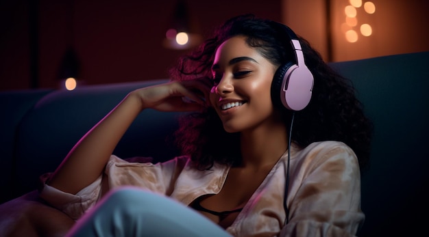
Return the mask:
<path fill-rule="evenodd" d="M 275 72 L 271 85 L 271 97 L 275 102 L 274 100 L 278 100 L 277 98 L 280 96 L 280 100 L 286 109 L 300 111 L 310 102 L 314 78 L 306 66 L 304 53 L 302 53 L 301 44 L 296 34 L 286 25 L 277 24 L 284 27 L 291 40 L 290 43 L 295 52 L 295 61 L 281 65 Z"/>

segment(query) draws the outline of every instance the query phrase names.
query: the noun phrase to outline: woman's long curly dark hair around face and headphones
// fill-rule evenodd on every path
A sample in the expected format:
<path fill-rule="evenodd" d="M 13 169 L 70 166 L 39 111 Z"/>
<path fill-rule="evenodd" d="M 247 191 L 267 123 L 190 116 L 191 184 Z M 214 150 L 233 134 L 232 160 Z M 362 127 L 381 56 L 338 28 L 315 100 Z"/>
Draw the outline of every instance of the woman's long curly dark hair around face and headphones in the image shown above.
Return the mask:
<path fill-rule="evenodd" d="M 212 77 L 210 68 L 217 47 L 234 36 L 244 36 L 249 46 L 276 66 L 295 61 L 289 35 L 282 28 L 280 23 L 252 14 L 231 18 L 193 53 L 180 58 L 177 67 L 170 70 L 172 79 Z M 302 147 L 315 141 L 342 141 L 354 150 L 360 167 L 364 167 L 369 159 L 372 124 L 363 113 L 351 81 L 332 70 L 307 40 L 297 37 L 315 81 L 310 103 L 295 112 L 292 141 Z M 289 126 L 293 112 L 276 101 L 273 99 L 274 106 L 282 109 Z M 214 162 L 232 164 L 241 158 L 240 146 L 231 145 L 239 143 L 239 134 L 225 132 L 211 107 L 182 117 L 175 137 L 182 153 L 190 155 L 199 169 L 208 169 Z"/>

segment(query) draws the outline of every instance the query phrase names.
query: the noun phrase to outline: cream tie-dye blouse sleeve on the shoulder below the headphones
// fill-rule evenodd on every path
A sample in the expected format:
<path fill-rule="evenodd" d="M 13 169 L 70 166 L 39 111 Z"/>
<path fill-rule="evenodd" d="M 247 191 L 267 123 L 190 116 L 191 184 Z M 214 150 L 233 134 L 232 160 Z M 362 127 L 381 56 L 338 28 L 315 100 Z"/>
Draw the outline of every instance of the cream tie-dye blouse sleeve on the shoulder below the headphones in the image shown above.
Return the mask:
<path fill-rule="evenodd" d="M 297 169 L 302 180 L 291 187 L 289 223 L 280 236 L 354 236 L 365 219 L 354 152 L 343 143 L 319 144 Z"/>

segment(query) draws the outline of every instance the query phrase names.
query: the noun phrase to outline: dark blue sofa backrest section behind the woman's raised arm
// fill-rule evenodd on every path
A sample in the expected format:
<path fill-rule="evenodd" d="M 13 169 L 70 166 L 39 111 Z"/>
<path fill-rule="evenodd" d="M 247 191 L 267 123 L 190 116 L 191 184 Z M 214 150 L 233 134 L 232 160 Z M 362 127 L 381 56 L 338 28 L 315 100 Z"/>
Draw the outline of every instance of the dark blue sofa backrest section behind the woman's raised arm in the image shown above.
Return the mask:
<path fill-rule="evenodd" d="M 93 85 L 55 91 L 41 98 L 16 132 L 16 193 L 37 187 L 42 173 L 55 171 L 73 145 L 134 89 L 166 80 Z M 165 161 L 175 149 L 165 139 L 177 126 L 179 113 L 145 110 L 123 136 L 114 154 L 121 158 L 153 156 Z M 88 157 L 90 159 L 90 157 Z"/>

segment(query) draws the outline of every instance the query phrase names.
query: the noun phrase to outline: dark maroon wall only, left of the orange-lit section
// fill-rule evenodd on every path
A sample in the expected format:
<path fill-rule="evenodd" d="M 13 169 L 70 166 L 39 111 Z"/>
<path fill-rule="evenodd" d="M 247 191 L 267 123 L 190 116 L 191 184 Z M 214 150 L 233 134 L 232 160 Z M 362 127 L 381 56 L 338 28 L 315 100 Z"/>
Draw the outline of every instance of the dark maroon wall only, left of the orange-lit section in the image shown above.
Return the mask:
<path fill-rule="evenodd" d="M 166 78 L 168 68 L 185 53 L 162 46 L 176 2 L 1 1 L 0 90 L 30 88 L 34 77 L 36 87 L 58 87 L 57 71 L 71 43 L 82 65 L 80 79 L 86 84 Z M 236 14 L 252 12 L 280 21 L 280 2 L 186 1 L 203 34 Z M 30 47 L 34 40 L 36 49 Z M 30 70 L 32 61 L 37 65 Z"/>

